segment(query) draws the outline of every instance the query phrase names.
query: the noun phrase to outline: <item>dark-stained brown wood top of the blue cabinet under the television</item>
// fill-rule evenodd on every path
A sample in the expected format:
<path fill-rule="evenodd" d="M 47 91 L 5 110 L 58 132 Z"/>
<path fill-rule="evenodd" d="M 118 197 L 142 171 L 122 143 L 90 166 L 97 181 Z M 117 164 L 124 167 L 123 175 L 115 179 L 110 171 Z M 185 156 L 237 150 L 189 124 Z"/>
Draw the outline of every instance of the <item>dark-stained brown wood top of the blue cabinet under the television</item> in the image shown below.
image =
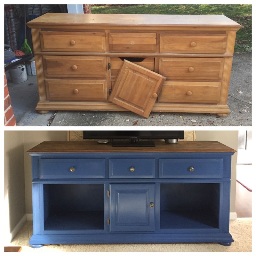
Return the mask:
<path fill-rule="evenodd" d="M 180 141 L 178 144 L 155 142 L 155 147 L 112 147 L 96 141 L 45 141 L 33 147 L 28 153 L 230 153 L 236 152 L 217 141 Z"/>

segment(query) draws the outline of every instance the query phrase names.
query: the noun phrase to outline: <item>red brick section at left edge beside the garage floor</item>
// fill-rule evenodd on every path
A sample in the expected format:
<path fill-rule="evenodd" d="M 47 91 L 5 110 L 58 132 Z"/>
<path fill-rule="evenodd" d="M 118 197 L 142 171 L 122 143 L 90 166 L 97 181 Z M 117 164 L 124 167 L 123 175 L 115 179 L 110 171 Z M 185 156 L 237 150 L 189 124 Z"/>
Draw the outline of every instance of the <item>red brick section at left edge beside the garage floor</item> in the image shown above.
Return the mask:
<path fill-rule="evenodd" d="M 16 120 L 11 106 L 11 97 L 7 86 L 7 79 L 5 75 L 5 126 L 16 126 Z"/>

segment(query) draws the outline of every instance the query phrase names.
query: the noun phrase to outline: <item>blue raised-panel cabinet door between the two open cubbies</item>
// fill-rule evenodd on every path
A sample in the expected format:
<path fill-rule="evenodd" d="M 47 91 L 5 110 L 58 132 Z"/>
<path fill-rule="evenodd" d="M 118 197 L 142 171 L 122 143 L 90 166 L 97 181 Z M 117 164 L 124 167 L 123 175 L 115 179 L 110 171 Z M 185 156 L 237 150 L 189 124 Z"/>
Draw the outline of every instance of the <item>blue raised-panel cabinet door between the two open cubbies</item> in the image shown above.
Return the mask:
<path fill-rule="evenodd" d="M 110 185 L 110 232 L 154 231 L 155 184 Z"/>

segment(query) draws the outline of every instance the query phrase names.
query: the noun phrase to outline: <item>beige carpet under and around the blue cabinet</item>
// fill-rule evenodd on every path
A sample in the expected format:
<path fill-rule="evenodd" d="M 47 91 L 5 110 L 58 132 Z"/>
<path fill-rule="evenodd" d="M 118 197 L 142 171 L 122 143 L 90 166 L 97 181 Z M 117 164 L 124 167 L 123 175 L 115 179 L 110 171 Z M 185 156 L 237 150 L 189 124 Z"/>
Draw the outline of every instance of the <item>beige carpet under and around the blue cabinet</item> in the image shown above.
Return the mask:
<path fill-rule="evenodd" d="M 230 221 L 230 233 L 234 239 L 231 246 L 217 243 L 157 243 L 157 244 L 95 244 L 95 245 L 47 245 L 33 249 L 28 242 L 32 235 L 32 222 L 26 222 L 10 245 L 22 246 L 22 252 L 62 251 L 251 251 L 251 218 Z"/>

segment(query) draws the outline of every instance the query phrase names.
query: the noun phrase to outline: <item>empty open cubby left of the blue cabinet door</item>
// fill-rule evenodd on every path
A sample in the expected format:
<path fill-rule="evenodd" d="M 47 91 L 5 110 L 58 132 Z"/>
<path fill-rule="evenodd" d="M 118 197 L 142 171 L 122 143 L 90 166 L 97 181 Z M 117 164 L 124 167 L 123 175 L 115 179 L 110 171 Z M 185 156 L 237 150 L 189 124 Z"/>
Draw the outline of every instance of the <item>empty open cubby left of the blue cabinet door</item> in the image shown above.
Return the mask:
<path fill-rule="evenodd" d="M 45 230 L 104 229 L 104 184 L 44 184 Z"/>

